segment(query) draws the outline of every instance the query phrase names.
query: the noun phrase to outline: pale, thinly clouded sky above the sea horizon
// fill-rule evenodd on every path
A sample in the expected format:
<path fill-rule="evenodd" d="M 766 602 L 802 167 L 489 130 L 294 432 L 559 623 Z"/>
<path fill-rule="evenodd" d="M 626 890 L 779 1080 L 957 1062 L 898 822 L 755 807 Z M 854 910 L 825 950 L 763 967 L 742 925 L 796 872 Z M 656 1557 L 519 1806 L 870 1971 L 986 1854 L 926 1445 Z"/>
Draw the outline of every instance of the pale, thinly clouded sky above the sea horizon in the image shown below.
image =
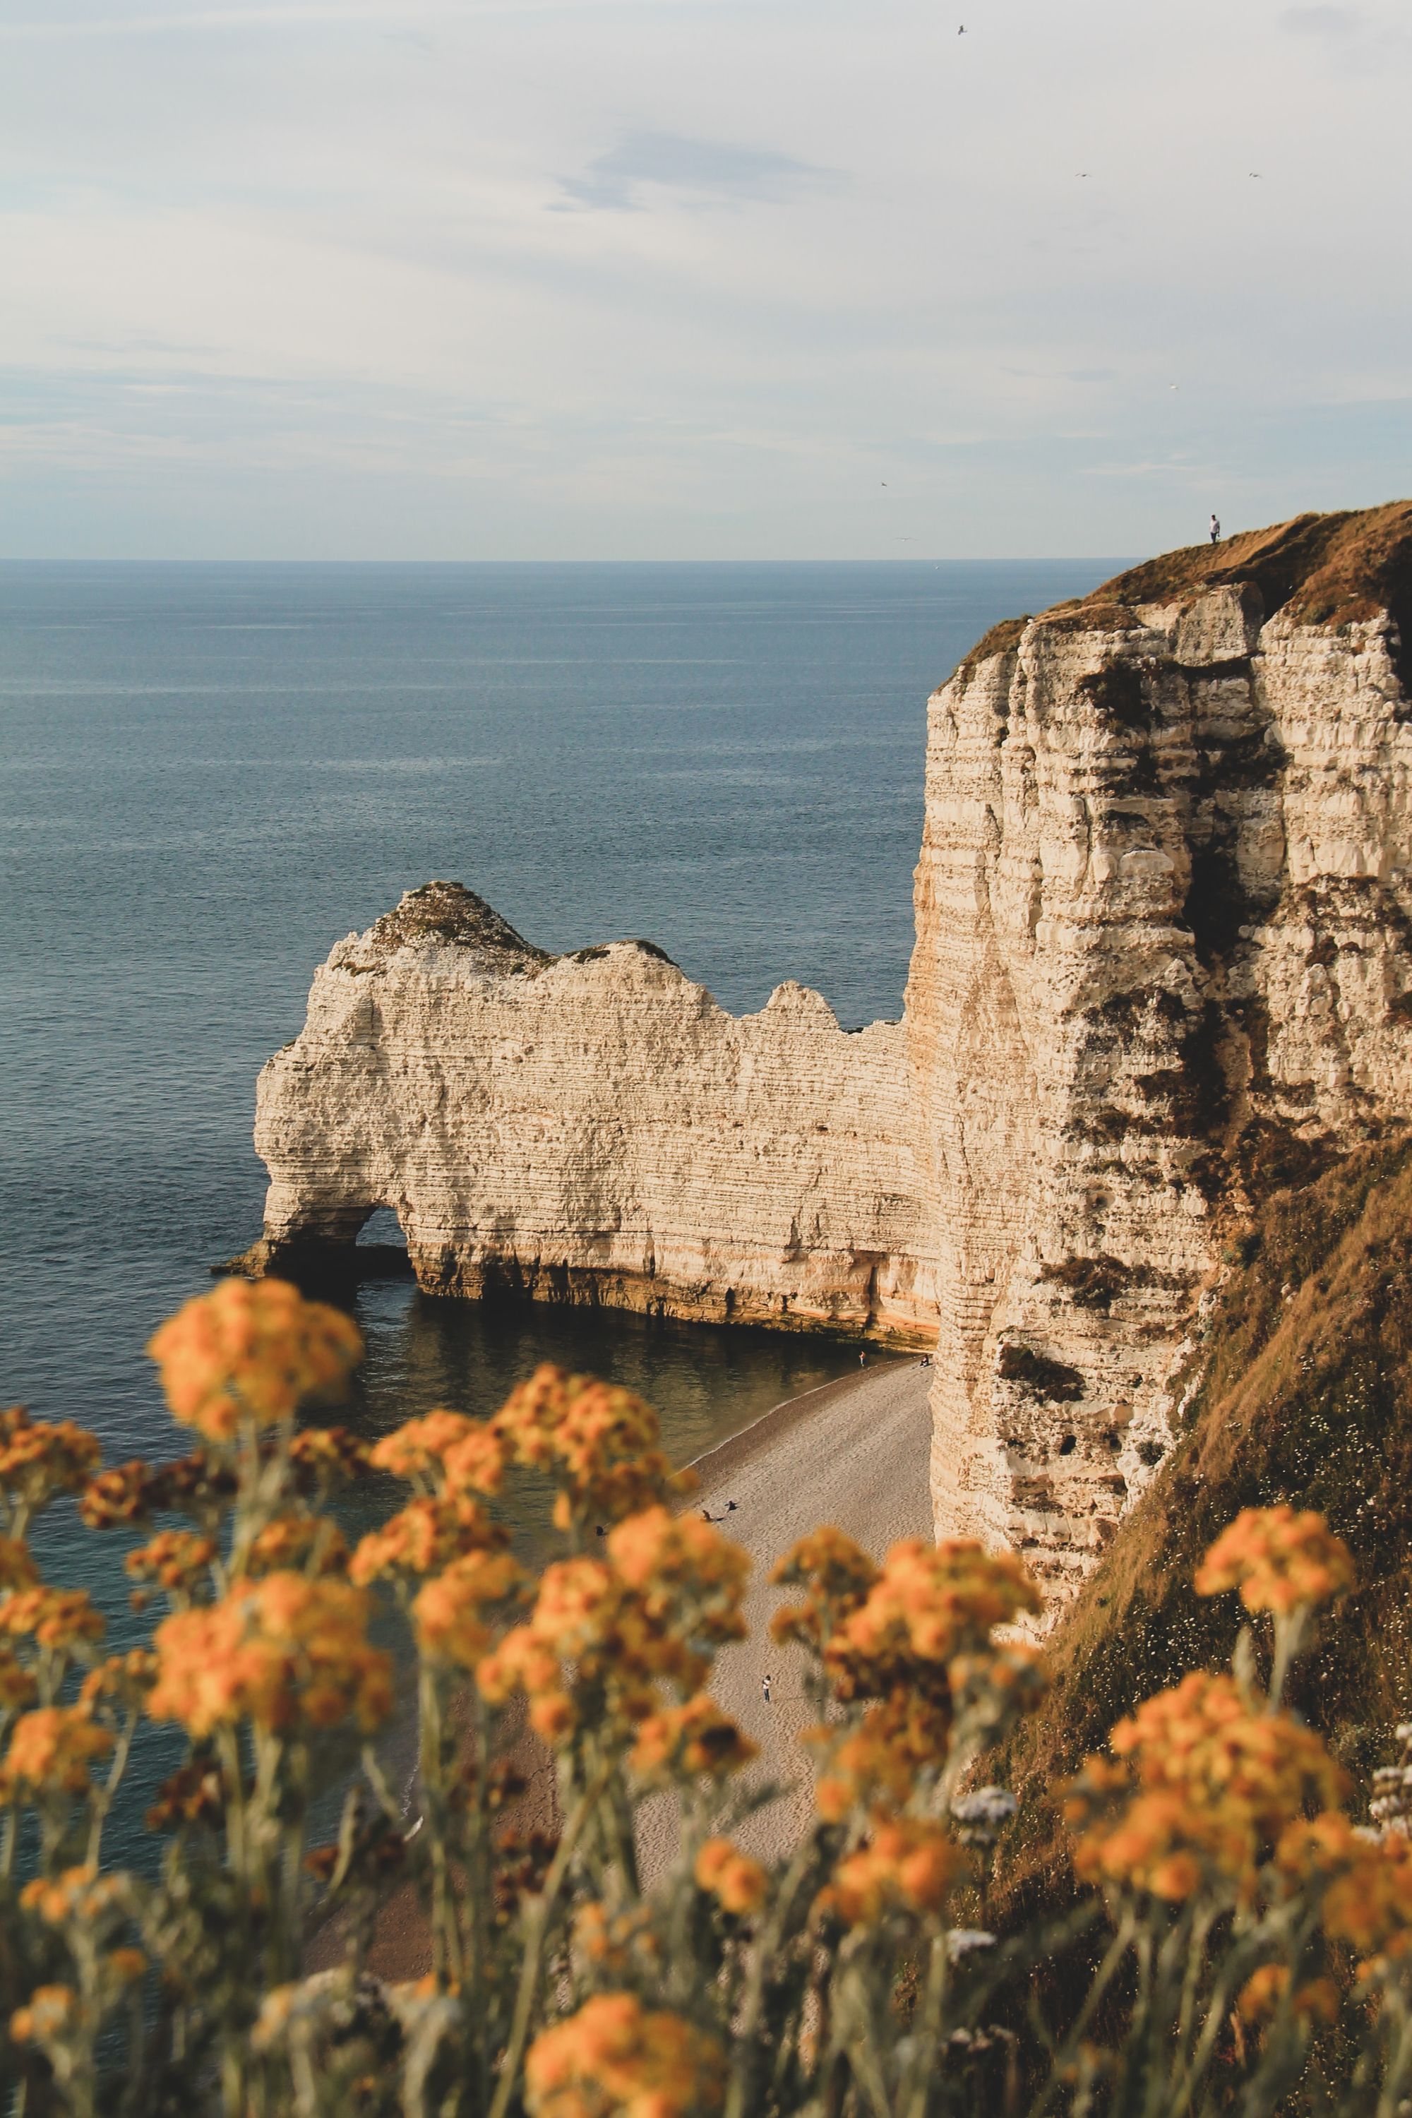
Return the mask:
<path fill-rule="evenodd" d="M 1399 498 L 1410 91 L 1410 0 L 0 0 L 0 557 Z"/>

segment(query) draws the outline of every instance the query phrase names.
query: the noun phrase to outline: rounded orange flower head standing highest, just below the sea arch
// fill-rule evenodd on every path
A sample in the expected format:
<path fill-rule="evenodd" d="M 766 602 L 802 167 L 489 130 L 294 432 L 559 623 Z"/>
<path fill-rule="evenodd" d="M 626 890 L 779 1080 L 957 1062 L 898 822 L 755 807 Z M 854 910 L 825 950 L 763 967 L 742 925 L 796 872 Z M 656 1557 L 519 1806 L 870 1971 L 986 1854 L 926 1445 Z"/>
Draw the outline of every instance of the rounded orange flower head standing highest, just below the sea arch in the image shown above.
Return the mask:
<path fill-rule="evenodd" d="M 231 1442 L 243 1419 L 275 1425 L 341 1389 L 362 1360 L 362 1339 L 351 1317 L 307 1303 L 286 1279 L 222 1279 L 182 1303 L 148 1353 L 171 1417 L 207 1442 Z"/>

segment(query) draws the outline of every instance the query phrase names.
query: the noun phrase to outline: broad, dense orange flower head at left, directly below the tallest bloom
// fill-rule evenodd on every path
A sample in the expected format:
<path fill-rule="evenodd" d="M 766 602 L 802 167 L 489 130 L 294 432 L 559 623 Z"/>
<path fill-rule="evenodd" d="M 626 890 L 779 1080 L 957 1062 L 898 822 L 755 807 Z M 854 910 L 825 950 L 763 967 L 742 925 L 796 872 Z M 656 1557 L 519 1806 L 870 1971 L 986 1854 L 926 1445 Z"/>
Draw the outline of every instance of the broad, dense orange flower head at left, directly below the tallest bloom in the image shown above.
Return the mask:
<path fill-rule="evenodd" d="M 392 1711 L 392 1658 L 368 1646 L 368 1603 L 347 1582 L 267 1574 L 220 1603 L 157 1627 L 152 1720 L 193 1737 L 252 1720 L 258 1728 L 375 1728 Z"/>

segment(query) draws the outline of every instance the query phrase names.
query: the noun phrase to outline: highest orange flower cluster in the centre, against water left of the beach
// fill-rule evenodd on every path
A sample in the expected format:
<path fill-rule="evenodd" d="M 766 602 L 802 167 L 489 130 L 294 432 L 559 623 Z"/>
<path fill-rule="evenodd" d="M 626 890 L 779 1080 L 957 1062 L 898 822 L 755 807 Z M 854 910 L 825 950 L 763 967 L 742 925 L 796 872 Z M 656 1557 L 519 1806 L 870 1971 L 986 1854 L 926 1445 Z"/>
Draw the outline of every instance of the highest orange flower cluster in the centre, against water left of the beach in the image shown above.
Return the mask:
<path fill-rule="evenodd" d="M 688 1472 L 673 1476 L 650 1404 L 550 1362 L 510 1392 L 491 1425 L 514 1464 L 565 1483 L 555 1506 L 559 1529 L 589 1514 L 618 1523 L 694 1483 Z"/>

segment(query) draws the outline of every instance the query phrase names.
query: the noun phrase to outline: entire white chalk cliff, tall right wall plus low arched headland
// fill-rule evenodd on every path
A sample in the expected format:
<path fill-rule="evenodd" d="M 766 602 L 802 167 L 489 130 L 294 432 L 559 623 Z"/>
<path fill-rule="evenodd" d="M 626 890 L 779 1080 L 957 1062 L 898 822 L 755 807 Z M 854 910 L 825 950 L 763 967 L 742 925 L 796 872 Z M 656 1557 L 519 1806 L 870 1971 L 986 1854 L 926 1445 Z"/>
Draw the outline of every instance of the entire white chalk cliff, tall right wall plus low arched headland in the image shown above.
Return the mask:
<path fill-rule="evenodd" d="M 929 703 L 902 1023 L 430 883 L 260 1076 L 252 1267 L 936 1336 L 940 1531 L 1078 1586 L 1260 1190 L 1412 1114 L 1412 504 L 1152 561 Z"/>

